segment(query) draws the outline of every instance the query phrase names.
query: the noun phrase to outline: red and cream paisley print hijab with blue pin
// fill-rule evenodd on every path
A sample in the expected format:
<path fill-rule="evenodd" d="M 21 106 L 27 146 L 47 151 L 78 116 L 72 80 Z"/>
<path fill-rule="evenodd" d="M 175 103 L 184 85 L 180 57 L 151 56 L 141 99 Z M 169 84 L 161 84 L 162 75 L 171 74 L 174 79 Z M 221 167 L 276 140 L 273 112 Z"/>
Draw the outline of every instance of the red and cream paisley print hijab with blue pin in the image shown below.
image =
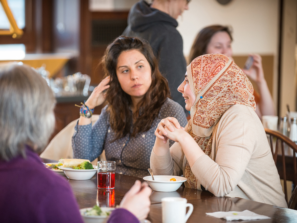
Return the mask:
<path fill-rule="evenodd" d="M 214 126 L 234 104 L 247 105 L 255 110 L 254 89 L 242 70 L 222 54 L 198 56 L 187 67 L 187 75 L 196 96 L 187 131 L 204 153 L 214 159 L 211 155 Z M 187 160 L 185 177 L 191 188 L 200 188 Z"/>

